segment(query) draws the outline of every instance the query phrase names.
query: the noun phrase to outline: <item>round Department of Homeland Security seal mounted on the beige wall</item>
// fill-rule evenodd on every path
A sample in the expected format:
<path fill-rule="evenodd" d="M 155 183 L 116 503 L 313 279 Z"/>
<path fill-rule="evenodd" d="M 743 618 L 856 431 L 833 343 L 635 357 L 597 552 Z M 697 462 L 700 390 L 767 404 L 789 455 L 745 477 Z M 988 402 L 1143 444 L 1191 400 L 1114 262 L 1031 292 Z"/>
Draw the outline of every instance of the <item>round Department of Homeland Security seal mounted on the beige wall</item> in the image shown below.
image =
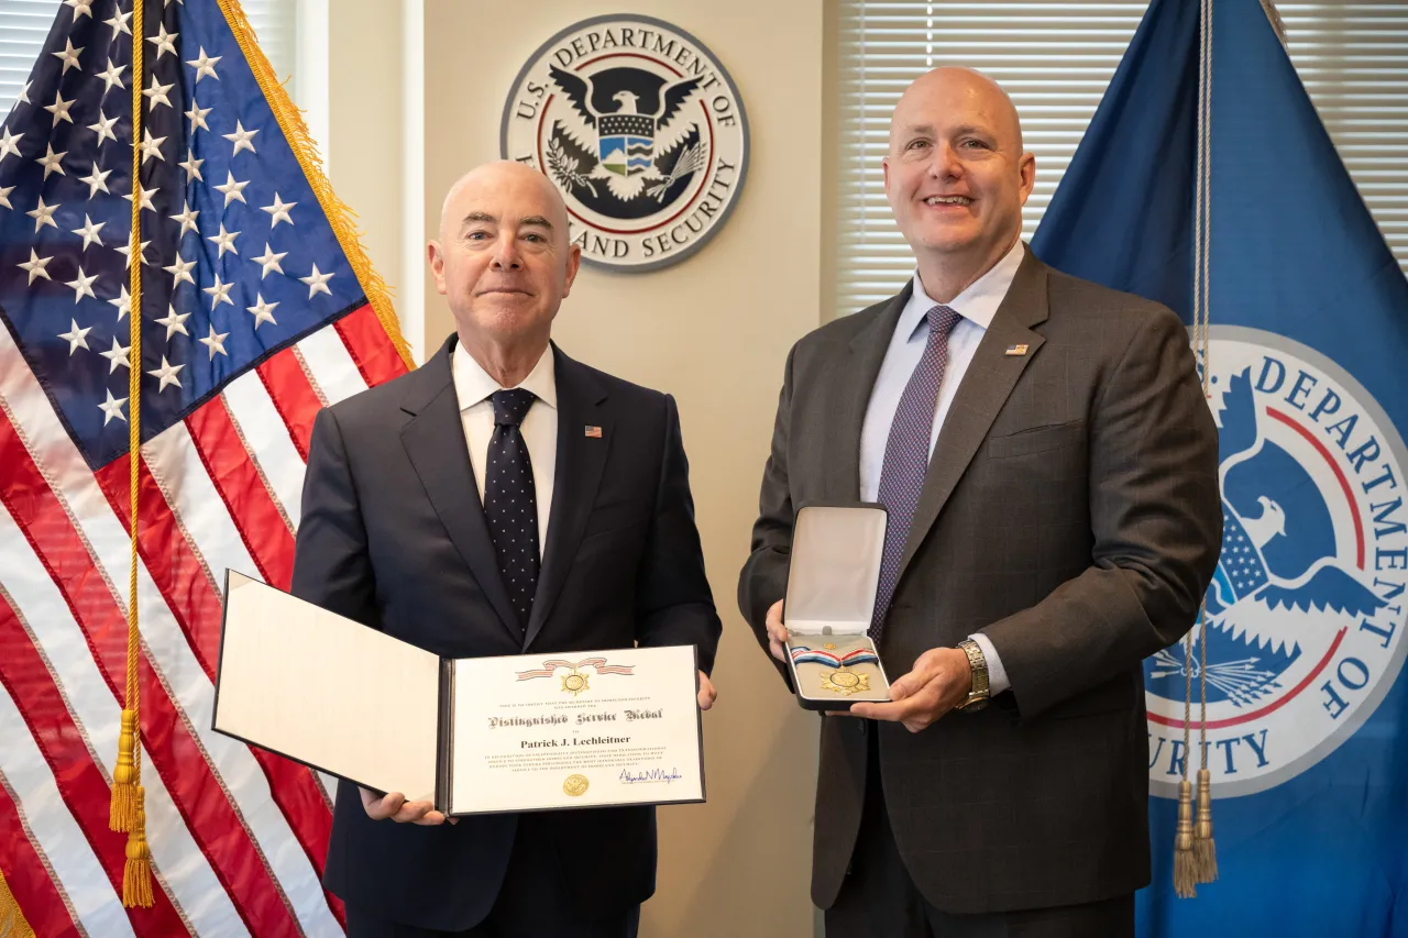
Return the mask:
<path fill-rule="evenodd" d="M 500 151 L 556 183 L 583 261 L 653 270 L 698 251 L 728 218 L 748 169 L 748 118 L 693 35 L 650 17 L 596 17 L 548 39 L 518 73 Z"/>

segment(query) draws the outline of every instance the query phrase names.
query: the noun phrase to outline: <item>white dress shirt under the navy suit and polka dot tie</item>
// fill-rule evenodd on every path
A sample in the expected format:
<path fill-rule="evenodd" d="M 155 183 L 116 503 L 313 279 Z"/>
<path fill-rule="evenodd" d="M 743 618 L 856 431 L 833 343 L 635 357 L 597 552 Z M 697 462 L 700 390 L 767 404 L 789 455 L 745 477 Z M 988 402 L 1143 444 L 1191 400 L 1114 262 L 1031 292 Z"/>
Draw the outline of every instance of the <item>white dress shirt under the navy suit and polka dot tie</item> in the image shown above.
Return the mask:
<path fill-rule="evenodd" d="M 494 404 L 490 394 L 498 390 L 498 382 L 489 376 L 479 362 L 455 344 L 451 358 L 451 375 L 455 379 L 455 397 L 459 399 L 459 420 L 465 427 L 465 441 L 469 444 L 469 463 L 474 468 L 474 486 L 479 489 L 479 503 L 484 503 L 484 472 L 489 466 L 489 441 L 494 435 Z M 558 470 L 558 377 L 553 370 L 552 346 L 528 372 L 518 387 L 534 393 L 536 400 L 528 407 L 518 432 L 528 446 L 528 461 L 532 463 L 532 484 L 538 500 L 538 559 L 542 559 L 548 544 L 548 514 L 552 511 L 552 480 Z M 511 389 L 508 389 L 511 390 Z"/>

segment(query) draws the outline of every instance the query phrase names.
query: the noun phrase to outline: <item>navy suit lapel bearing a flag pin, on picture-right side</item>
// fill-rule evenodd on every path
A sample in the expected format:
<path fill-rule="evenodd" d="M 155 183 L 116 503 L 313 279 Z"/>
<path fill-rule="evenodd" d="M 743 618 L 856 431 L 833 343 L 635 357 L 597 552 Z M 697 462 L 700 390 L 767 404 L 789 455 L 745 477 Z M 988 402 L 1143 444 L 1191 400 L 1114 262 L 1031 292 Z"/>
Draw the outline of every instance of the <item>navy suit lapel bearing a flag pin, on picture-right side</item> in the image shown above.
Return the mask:
<path fill-rule="evenodd" d="M 601 407 L 607 399 L 605 390 L 586 368 L 563 355 L 556 345 L 552 346 L 552 354 L 558 382 L 558 469 L 552 482 L 548 542 L 524 635 L 524 651 L 542 631 L 567 579 L 567 570 L 572 569 L 591 506 L 597 500 L 612 438 L 611 418 Z M 600 427 L 601 435 L 587 437 L 589 425 Z"/>

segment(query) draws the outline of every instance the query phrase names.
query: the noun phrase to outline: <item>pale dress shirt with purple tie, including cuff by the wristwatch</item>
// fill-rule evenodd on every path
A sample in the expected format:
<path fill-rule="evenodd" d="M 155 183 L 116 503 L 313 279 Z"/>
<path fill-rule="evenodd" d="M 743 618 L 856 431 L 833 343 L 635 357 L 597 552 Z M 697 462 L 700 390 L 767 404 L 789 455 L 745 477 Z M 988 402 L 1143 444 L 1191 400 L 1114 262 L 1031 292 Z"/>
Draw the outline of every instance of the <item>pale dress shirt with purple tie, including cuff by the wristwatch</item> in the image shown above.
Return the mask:
<path fill-rule="evenodd" d="M 929 432 L 929 459 L 934 459 L 934 446 L 939 439 L 939 430 L 943 418 L 953 404 L 953 394 L 963 382 L 973 354 L 979 342 L 993 324 L 993 315 L 1001 306 L 1007 290 L 1012 286 L 1017 268 L 1022 265 L 1026 249 L 1021 238 L 1012 249 L 1002 255 L 1002 259 L 993 265 L 987 273 L 973 282 L 969 289 L 953 297 L 945 306 L 953 308 L 963 318 L 959 320 L 953 331 L 949 332 L 949 362 L 943 369 L 943 380 L 939 383 L 939 399 L 934 408 L 934 430 Z M 924 292 L 919 273 L 914 275 L 914 294 L 900 313 L 900 321 L 890 337 L 890 346 L 886 349 L 884 362 L 880 365 L 880 375 L 876 376 L 874 387 L 870 390 L 870 403 L 866 407 L 866 420 L 860 428 L 860 499 L 876 501 L 880 494 L 880 470 L 884 468 L 884 449 L 890 441 L 890 424 L 894 423 L 894 413 L 900 407 L 900 397 L 904 394 L 910 376 L 924 358 L 924 346 L 929 339 L 929 330 L 925 315 L 938 303 Z M 1002 669 L 1002 661 L 997 656 L 997 649 L 987 635 L 976 632 L 970 635 L 983 649 L 987 659 L 987 680 L 991 693 L 1000 694 L 1011 683 Z"/>

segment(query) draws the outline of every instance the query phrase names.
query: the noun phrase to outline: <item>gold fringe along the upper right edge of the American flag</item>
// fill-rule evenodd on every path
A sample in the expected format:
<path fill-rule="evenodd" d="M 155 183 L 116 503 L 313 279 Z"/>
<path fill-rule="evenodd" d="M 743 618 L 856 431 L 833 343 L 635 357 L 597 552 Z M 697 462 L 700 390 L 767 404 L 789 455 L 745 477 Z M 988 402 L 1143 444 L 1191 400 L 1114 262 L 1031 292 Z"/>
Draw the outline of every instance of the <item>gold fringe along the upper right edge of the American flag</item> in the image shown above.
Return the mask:
<path fill-rule="evenodd" d="M 225 23 L 230 24 L 230 30 L 235 34 L 239 51 L 245 54 L 245 61 L 249 62 L 249 70 L 253 72 L 255 80 L 259 82 L 259 89 L 263 92 L 265 100 L 269 101 L 269 110 L 273 111 L 275 120 L 279 121 L 279 128 L 283 130 L 289 146 L 293 148 L 293 155 L 303 168 L 303 175 L 313 187 L 313 193 L 318 197 L 318 204 L 322 206 L 322 213 L 327 215 L 328 224 L 332 225 L 332 234 L 337 235 L 342 254 L 346 255 L 348 263 L 352 265 L 352 272 L 356 275 L 358 283 L 362 284 L 367 303 L 376 311 L 376 318 L 382 323 L 382 328 L 386 330 L 387 338 L 391 339 L 391 345 L 401 356 L 406 368 L 414 369 L 415 362 L 411 359 L 410 348 L 401 335 L 396 310 L 391 307 L 390 292 L 382 276 L 372 269 L 372 259 L 366 256 L 366 249 L 362 246 L 362 237 L 352 224 L 356 213 L 332 192 L 332 183 L 328 182 L 328 177 L 322 172 L 322 159 L 318 156 L 317 142 L 308 134 L 308 125 L 303 120 L 303 113 L 293 103 L 293 99 L 289 97 L 287 89 L 275 76 L 273 66 L 269 65 L 263 49 L 259 48 L 255 31 L 249 25 L 249 20 L 245 18 L 245 11 L 239 7 L 239 0 L 217 0 L 217 3 L 220 4 L 220 11 L 225 14 Z"/>

